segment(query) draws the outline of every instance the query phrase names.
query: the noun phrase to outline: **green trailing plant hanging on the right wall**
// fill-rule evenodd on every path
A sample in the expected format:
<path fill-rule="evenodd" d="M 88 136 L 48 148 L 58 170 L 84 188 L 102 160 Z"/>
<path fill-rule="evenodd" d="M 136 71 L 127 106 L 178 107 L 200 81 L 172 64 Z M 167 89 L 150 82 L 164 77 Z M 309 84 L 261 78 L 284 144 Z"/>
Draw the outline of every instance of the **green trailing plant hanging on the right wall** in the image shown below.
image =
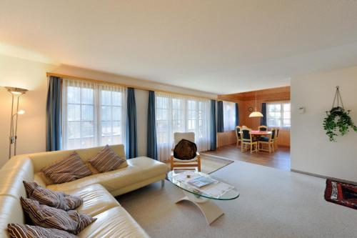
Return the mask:
<path fill-rule="evenodd" d="M 353 124 L 352 119 L 349 116 L 350 110 L 345 110 L 343 108 L 339 86 L 336 86 L 336 94 L 335 99 L 333 99 L 332 109 L 330 111 L 326 111 L 326 114 L 327 116 L 323 120 L 323 129 L 326 130 L 326 135 L 331 142 L 336 142 L 335 137 L 338 136 L 337 129 L 341 136 L 347 134 L 350 128 L 357 132 L 357 127 Z"/>

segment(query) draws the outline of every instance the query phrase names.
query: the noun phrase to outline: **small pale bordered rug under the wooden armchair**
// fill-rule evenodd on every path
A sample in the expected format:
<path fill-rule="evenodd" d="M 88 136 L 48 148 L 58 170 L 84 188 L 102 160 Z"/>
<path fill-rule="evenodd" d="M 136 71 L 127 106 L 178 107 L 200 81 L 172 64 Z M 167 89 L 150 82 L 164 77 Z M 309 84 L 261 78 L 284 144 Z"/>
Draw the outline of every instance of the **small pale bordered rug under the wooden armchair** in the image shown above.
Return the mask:
<path fill-rule="evenodd" d="M 201 154 L 201 172 L 206 174 L 211 174 L 231 163 L 233 163 L 233 160 L 209 154 Z M 170 162 L 167 162 L 166 164 L 170 168 Z"/>

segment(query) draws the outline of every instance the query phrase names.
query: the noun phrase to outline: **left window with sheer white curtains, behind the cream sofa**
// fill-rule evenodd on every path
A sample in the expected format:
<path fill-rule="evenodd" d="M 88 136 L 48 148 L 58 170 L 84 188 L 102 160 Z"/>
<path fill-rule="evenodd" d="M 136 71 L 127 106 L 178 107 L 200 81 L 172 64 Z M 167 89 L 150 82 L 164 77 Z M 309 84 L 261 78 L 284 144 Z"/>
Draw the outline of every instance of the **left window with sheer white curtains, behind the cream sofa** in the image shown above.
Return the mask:
<path fill-rule="evenodd" d="M 126 143 L 126 118 L 125 118 L 125 108 L 126 108 L 126 88 L 111 84 L 105 83 L 96 83 L 90 81 L 81 81 L 75 79 L 64 79 L 62 83 L 62 115 L 61 115 L 61 127 L 62 127 L 62 148 L 61 149 L 84 149 L 89 147 L 100 147 L 106 144 L 125 144 Z M 74 89 L 70 89 L 74 88 Z M 70 89 L 70 90 L 69 90 Z M 91 91 L 87 92 L 89 98 L 91 100 L 91 104 L 87 101 L 84 96 L 85 89 L 91 89 Z M 70 91 L 74 91 L 79 94 L 79 96 L 74 96 L 74 99 L 69 99 Z M 104 98 L 104 92 L 110 92 L 109 96 L 107 95 Z M 114 94 L 118 93 L 118 95 Z M 73 96 L 72 92 L 72 96 Z M 77 100 L 77 101 L 75 101 Z M 116 103 L 116 100 L 119 100 Z M 71 128 L 69 124 L 71 124 L 70 118 L 71 112 L 69 108 L 71 105 L 79 106 L 79 114 L 73 116 L 75 119 L 73 122 L 78 122 L 79 129 L 79 137 L 70 138 L 69 135 L 71 132 Z M 91 106 L 89 114 L 91 115 L 91 120 L 84 119 L 85 113 L 88 111 L 83 111 L 83 106 Z M 104 116 L 104 107 L 109 109 L 109 117 L 105 118 Z M 117 108 L 118 111 L 114 113 L 114 109 Z M 73 109 L 72 109 L 73 110 Z M 76 109 L 74 109 L 76 110 Z M 116 114 L 117 113 L 117 114 Z M 116 118 L 118 117 L 118 118 Z M 91 135 L 84 137 L 84 124 L 86 122 L 91 123 Z M 110 124 L 110 132 L 104 133 L 103 126 L 104 123 Z M 72 128 L 73 129 L 73 128 Z M 117 132 L 119 130 L 119 132 Z M 77 132 L 74 132 L 76 134 Z M 83 142 L 84 139 L 91 138 L 90 142 Z M 109 139 L 108 139 L 109 138 Z M 72 142 L 71 142 L 72 141 Z M 72 144 L 73 143 L 73 144 Z"/>

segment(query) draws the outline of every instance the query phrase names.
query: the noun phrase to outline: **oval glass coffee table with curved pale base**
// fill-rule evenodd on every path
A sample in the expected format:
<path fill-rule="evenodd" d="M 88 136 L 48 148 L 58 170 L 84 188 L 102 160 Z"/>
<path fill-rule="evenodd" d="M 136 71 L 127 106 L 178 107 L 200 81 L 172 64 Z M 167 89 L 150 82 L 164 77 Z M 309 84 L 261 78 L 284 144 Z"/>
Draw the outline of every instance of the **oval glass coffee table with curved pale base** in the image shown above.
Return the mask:
<path fill-rule="evenodd" d="M 185 172 L 185 173 L 187 174 L 188 172 Z M 185 197 L 179 199 L 176 203 L 185 201 L 185 200 L 192 202 L 201 210 L 202 214 L 206 218 L 208 225 L 211 225 L 212 222 L 216 221 L 216 219 L 218 219 L 219 217 L 221 217 L 223 215 L 223 211 L 221 210 L 221 208 L 219 208 L 213 201 L 214 200 L 236 199 L 239 197 L 239 192 L 234 187 L 231 187 L 231 185 L 229 185 L 226 182 L 223 182 L 221 179 L 218 179 L 211 175 L 204 174 L 204 173 L 197 172 L 197 171 L 190 172 L 190 174 L 191 173 L 192 173 L 192 175 L 190 175 L 190 177 L 186 177 L 186 174 L 177 173 L 174 171 L 171 171 L 171 172 L 169 172 L 169 174 L 167 174 L 169 181 L 172 184 L 175 184 L 176 187 L 179 187 L 180 189 L 182 189 L 183 194 L 185 194 Z M 197 176 L 208 177 L 210 179 L 216 180 L 217 182 L 221 182 L 220 184 L 223 183 L 223 185 L 224 184 L 228 185 L 230 187 L 230 189 L 227 192 L 225 192 L 224 194 L 213 196 L 211 192 L 210 193 L 204 192 L 205 190 L 208 191 L 209 186 L 214 187 L 213 185 L 208 184 L 208 185 L 206 185 L 206 189 L 205 189 L 205 187 L 202 187 L 202 189 L 199 189 L 199 188 L 194 187 L 193 185 L 190 185 L 186 182 L 191 177 L 197 177 Z M 186 180 L 183 180 L 183 178 L 185 178 L 185 177 L 186 177 Z"/>

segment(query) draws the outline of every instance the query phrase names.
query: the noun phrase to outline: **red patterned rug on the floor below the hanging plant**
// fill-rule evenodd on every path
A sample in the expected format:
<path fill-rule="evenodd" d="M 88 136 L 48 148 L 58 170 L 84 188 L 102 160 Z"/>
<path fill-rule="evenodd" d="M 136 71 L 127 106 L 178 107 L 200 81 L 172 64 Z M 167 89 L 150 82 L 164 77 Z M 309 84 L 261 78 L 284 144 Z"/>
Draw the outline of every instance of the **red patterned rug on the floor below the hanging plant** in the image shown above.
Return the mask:
<path fill-rule="evenodd" d="M 327 179 L 325 199 L 328 202 L 357 209 L 357 186 Z"/>

